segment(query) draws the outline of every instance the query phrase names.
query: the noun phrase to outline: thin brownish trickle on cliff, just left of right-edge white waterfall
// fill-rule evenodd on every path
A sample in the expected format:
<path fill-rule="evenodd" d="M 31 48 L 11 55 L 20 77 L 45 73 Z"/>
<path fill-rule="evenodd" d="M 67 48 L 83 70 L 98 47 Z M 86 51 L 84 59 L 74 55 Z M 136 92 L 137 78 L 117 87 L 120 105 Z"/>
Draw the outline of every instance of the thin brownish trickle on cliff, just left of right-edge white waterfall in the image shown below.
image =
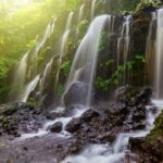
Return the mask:
<path fill-rule="evenodd" d="M 155 53 L 155 26 L 156 26 L 156 13 L 152 12 L 146 42 L 147 74 L 148 74 L 148 82 L 150 83 L 150 85 L 153 85 L 154 78 L 153 61 Z"/>

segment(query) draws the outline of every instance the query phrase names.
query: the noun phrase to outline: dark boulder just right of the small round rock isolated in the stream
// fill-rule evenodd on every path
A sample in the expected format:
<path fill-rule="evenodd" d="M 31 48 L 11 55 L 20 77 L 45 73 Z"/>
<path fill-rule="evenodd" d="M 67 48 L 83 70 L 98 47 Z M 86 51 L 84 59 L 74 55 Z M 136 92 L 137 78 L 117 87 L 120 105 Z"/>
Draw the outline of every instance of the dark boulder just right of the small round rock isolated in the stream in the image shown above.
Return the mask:
<path fill-rule="evenodd" d="M 80 118 L 72 118 L 70 123 L 65 126 L 65 130 L 70 133 L 75 133 L 77 129 L 79 129 L 82 126 Z"/>

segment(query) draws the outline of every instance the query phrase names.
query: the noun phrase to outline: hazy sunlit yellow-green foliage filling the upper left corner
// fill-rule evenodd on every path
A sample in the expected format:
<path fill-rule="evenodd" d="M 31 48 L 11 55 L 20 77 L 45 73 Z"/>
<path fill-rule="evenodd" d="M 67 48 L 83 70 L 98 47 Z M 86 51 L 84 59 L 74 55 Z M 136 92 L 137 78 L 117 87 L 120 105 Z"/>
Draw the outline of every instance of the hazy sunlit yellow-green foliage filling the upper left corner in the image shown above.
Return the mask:
<path fill-rule="evenodd" d="M 79 2 L 80 0 L 30 0 L 26 4 L 18 0 L 15 4 L 15 0 L 0 1 L 0 103 L 7 99 L 11 88 L 9 84 L 15 63 L 23 53 L 37 45 L 36 36 L 41 38 L 48 23 L 53 17 L 60 17 L 57 32 L 54 30 L 54 37 L 59 38 L 65 25 L 64 15 L 75 11 Z M 39 52 L 38 65 L 41 67 L 49 49 L 42 48 Z"/>

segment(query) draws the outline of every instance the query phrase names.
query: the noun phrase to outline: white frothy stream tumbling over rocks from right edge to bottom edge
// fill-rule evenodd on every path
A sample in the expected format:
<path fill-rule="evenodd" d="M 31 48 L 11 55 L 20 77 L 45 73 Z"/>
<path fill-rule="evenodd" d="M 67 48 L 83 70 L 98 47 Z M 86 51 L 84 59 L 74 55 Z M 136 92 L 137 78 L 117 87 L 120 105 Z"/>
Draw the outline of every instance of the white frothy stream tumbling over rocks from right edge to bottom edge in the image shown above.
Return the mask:
<path fill-rule="evenodd" d="M 137 162 L 136 155 L 128 150 L 129 138 L 146 137 L 153 128 L 154 120 L 160 114 L 162 104 L 153 101 L 159 106 L 158 113 L 153 114 L 150 106 L 147 106 L 146 128 L 143 130 L 121 133 L 112 145 L 89 145 L 78 155 L 67 156 L 62 163 L 126 163 L 126 154 L 129 155 L 128 162 Z"/>

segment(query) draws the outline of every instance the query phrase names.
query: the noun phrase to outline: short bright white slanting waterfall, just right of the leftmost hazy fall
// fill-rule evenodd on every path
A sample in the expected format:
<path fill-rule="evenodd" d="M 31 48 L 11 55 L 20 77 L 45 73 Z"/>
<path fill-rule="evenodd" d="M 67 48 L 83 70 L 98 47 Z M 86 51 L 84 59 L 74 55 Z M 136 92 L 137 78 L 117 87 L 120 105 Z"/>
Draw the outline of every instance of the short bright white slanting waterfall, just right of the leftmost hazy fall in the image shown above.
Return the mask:
<path fill-rule="evenodd" d="M 39 82 L 39 75 L 37 75 L 25 88 L 25 92 L 22 96 L 21 102 L 26 102 L 30 92 L 35 90 Z"/>

